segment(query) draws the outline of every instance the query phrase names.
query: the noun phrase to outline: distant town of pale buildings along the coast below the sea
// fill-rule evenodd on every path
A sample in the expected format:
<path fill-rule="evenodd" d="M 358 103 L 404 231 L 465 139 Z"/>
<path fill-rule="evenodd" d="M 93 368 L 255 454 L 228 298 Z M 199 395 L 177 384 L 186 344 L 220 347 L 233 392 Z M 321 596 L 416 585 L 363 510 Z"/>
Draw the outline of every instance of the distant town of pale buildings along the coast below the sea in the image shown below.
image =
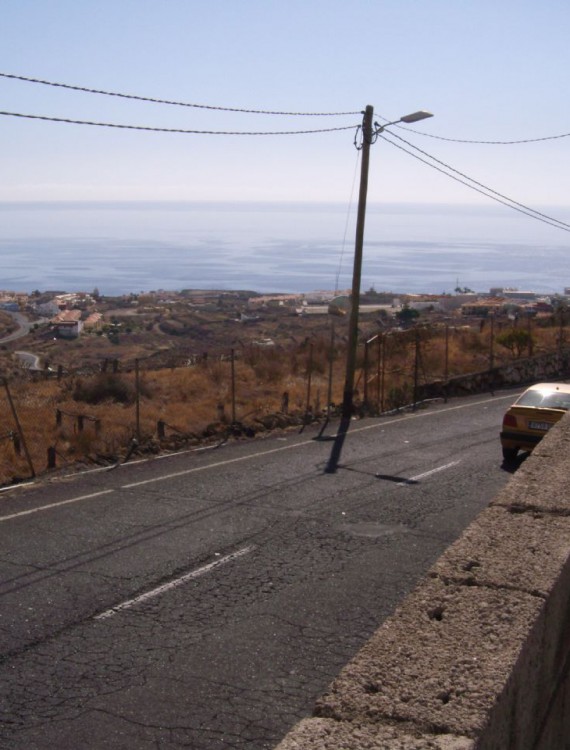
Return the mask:
<path fill-rule="evenodd" d="M 494 287 L 474 292 L 457 287 L 453 294 L 397 294 L 370 288 L 361 293 L 361 315 L 396 317 L 403 309 L 416 313 L 485 318 L 489 315 L 516 318 L 550 314 L 570 300 L 570 287 L 561 294 L 544 295 L 530 290 Z M 92 292 L 39 291 L 30 294 L 0 290 L 0 311 L 24 313 L 38 326 L 50 327 L 53 336 L 76 339 L 85 331 L 97 331 L 111 316 L 160 312 L 173 307 L 202 313 L 224 313 L 247 323 L 264 312 L 288 315 L 344 315 L 350 309 L 350 292 L 314 291 L 303 294 L 258 294 L 250 291 L 182 290 L 151 291 L 120 297 Z"/>

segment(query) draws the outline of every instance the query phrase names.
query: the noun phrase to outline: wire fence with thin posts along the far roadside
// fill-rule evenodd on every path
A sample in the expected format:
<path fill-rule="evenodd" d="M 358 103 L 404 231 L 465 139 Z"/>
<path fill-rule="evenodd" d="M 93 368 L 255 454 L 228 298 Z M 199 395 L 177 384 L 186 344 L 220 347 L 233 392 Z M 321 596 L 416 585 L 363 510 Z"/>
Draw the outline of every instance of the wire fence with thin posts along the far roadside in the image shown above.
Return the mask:
<path fill-rule="evenodd" d="M 526 334 L 526 335 L 521 335 Z M 152 454 L 335 416 L 346 338 L 290 347 L 242 346 L 223 354 L 103 359 L 74 368 L 44 363 L 2 380 L 0 484 L 77 465 Z M 564 324 L 534 333 L 491 322 L 417 326 L 362 341 L 355 416 L 417 408 L 425 399 L 565 377 Z"/>

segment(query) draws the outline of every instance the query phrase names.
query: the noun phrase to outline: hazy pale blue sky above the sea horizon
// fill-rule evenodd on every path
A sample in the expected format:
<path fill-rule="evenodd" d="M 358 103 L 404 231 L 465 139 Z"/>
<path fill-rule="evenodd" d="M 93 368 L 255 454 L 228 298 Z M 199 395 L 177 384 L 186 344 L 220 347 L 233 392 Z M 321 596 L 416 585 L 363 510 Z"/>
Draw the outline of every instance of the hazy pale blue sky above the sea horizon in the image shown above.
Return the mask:
<path fill-rule="evenodd" d="M 570 133 L 568 0 L 2 0 L 1 10 L 3 73 L 219 107 L 359 113 L 371 104 L 389 120 L 427 109 L 435 116 L 410 127 L 450 139 Z M 3 115 L 0 200 L 347 203 L 353 194 L 360 114 L 247 115 L 6 78 L 0 93 L 3 111 L 117 124 L 351 126 L 186 135 Z M 570 138 L 477 145 L 394 132 L 523 204 L 570 204 Z M 369 200 L 490 204 L 383 140 L 371 153 Z"/>

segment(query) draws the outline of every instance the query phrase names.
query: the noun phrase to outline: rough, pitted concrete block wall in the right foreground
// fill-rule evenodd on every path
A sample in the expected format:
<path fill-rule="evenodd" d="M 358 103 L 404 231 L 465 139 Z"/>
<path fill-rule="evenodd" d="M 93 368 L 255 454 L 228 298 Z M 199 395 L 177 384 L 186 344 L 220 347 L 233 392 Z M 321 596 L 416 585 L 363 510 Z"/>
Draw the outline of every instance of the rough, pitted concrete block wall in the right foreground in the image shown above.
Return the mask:
<path fill-rule="evenodd" d="M 570 414 L 277 750 L 568 750 L 569 653 Z"/>

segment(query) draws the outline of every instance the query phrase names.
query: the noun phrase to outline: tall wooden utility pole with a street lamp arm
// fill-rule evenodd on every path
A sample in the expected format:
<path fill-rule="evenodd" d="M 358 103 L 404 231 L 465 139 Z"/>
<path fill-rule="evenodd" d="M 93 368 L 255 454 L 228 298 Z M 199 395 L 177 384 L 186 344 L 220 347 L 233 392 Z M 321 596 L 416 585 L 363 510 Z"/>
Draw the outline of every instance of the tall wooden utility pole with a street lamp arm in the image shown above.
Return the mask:
<path fill-rule="evenodd" d="M 360 278 L 362 275 L 362 248 L 364 244 L 364 221 L 366 218 L 366 195 L 368 193 L 368 167 L 370 163 L 370 146 L 374 143 L 380 133 L 390 125 L 400 122 L 406 124 L 419 122 L 428 117 L 433 117 L 431 112 L 421 109 L 409 115 L 400 117 L 399 120 L 388 122 L 385 125 L 372 124 L 374 108 L 369 104 L 363 112 L 362 120 L 362 163 L 360 168 L 360 193 L 358 197 L 358 213 L 356 218 L 356 239 L 354 244 L 354 267 L 352 271 L 352 291 L 350 320 L 348 329 L 348 351 L 346 356 L 346 376 L 344 381 L 344 392 L 342 399 L 342 417 L 337 433 L 337 438 L 331 451 L 326 471 L 336 470 L 344 437 L 350 424 L 353 405 L 354 372 L 356 369 L 356 351 L 358 347 L 358 314 L 360 309 Z"/>

